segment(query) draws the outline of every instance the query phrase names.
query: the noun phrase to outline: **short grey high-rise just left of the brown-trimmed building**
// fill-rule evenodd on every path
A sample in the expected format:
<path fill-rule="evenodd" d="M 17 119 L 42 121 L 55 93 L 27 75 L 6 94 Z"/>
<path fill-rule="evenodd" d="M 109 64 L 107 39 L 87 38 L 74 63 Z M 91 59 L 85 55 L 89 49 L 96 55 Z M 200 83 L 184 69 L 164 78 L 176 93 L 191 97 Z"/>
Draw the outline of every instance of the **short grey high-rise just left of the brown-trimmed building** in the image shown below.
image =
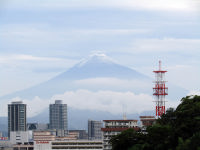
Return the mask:
<path fill-rule="evenodd" d="M 102 139 L 103 123 L 101 121 L 88 120 L 88 139 L 89 140 L 100 140 Z"/>

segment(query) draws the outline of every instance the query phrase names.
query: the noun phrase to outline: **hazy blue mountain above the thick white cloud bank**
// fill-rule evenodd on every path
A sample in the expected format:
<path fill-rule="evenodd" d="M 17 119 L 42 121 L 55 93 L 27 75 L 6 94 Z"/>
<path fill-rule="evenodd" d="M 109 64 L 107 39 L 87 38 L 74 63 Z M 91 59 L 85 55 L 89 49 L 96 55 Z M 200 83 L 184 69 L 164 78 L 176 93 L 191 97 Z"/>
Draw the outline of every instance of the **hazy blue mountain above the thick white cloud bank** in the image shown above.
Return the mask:
<path fill-rule="evenodd" d="M 108 80 L 106 80 L 108 79 Z M 103 84 L 102 80 L 106 83 Z M 129 91 L 134 92 L 147 92 L 151 89 L 145 89 L 138 85 L 121 86 L 113 82 L 119 80 L 134 80 L 136 83 L 143 82 L 143 85 L 147 85 L 151 79 L 133 69 L 122 66 L 112 61 L 111 58 L 104 54 L 95 54 L 88 59 L 80 61 L 69 70 L 61 73 L 60 75 L 43 82 L 39 85 L 31 88 L 18 91 L 12 94 L 3 96 L 3 99 L 11 99 L 13 97 L 20 98 L 33 98 L 39 96 L 41 98 L 50 98 L 55 94 L 61 94 L 70 90 L 77 89 L 89 89 L 89 90 L 117 90 L 117 91 Z M 145 82 L 146 83 L 145 83 Z M 110 82 L 110 83 L 109 83 Z M 135 84 L 135 83 L 134 83 Z M 151 84 L 151 82 L 149 82 Z M 113 86 L 114 85 L 114 86 Z M 140 85 L 141 86 L 141 85 Z M 135 88 L 137 87 L 137 88 Z M 1 97 L 0 97 L 1 99 Z"/>

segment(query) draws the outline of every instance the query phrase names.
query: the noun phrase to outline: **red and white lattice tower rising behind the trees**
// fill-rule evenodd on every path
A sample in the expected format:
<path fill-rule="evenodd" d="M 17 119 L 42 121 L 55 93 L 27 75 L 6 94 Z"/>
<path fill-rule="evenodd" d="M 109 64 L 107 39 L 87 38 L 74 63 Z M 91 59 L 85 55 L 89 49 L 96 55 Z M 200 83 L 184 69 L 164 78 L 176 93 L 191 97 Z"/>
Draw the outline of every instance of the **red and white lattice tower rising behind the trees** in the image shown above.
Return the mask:
<path fill-rule="evenodd" d="M 161 69 L 161 61 L 159 61 L 159 70 L 153 72 L 155 73 L 153 95 L 156 97 L 156 116 L 160 117 L 165 114 L 165 96 L 168 95 L 168 88 L 165 86 L 165 73 L 167 71 Z"/>

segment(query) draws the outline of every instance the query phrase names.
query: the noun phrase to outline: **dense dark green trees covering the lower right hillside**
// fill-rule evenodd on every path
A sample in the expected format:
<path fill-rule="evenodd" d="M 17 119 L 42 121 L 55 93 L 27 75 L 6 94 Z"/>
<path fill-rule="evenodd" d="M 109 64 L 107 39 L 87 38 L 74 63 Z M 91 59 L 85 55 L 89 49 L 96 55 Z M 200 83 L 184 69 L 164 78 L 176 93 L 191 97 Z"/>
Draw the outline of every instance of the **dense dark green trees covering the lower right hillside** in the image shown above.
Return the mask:
<path fill-rule="evenodd" d="M 200 96 L 182 98 L 174 110 L 170 108 L 147 134 L 126 130 L 114 136 L 113 150 L 200 150 Z"/>

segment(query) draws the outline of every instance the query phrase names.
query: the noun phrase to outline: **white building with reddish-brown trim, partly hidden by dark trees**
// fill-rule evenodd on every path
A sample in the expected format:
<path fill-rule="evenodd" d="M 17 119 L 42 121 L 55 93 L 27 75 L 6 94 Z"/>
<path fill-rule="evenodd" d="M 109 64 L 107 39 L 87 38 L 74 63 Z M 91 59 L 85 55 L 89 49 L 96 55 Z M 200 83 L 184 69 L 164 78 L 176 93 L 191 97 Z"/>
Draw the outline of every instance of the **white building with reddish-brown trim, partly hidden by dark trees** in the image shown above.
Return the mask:
<path fill-rule="evenodd" d="M 113 135 L 118 135 L 127 129 L 134 129 L 138 131 L 140 128 L 137 124 L 138 120 L 104 120 L 103 131 L 103 150 L 111 150 L 112 146 L 109 140 Z"/>

